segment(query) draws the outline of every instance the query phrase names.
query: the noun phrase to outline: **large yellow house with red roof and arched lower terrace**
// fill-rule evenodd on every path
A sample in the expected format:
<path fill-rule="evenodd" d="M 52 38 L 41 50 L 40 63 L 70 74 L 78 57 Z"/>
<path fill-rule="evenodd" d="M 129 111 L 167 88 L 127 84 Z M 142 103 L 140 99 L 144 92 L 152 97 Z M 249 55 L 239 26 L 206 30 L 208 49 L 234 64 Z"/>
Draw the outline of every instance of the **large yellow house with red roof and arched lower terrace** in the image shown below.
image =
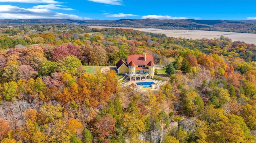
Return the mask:
<path fill-rule="evenodd" d="M 130 80 L 136 78 L 154 78 L 155 64 L 152 54 L 146 55 L 128 55 L 127 63 L 120 59 L 116 63 L 118 73 L 127 73 Z"/>

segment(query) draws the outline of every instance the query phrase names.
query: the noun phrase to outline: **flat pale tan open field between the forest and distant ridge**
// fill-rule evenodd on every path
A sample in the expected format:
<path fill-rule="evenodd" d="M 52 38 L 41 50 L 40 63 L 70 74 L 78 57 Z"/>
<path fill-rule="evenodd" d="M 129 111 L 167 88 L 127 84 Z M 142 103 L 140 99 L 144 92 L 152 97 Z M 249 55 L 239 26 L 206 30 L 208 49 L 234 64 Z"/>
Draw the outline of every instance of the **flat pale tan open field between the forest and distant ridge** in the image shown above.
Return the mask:
<path fill-rule="evenodd" d="M 91 28 L 108 28 L 104 26 L 90 26 Z M 253 33 L 234 33 L 222 31 L 203 31 L 203 30 L 163 30 L 157 28 L 134 28 L 134 27 L 109 27 L 109 28 L 125 28 L 134 29 L 144 32 L 161 33 L 168 37 L 182 37 L 187 39 L 214 39 L 224 35 L 232 39 L 232 41 L 244 41 L 245 43 L 253 43 L 256 45 L 256 34 Z"/>

